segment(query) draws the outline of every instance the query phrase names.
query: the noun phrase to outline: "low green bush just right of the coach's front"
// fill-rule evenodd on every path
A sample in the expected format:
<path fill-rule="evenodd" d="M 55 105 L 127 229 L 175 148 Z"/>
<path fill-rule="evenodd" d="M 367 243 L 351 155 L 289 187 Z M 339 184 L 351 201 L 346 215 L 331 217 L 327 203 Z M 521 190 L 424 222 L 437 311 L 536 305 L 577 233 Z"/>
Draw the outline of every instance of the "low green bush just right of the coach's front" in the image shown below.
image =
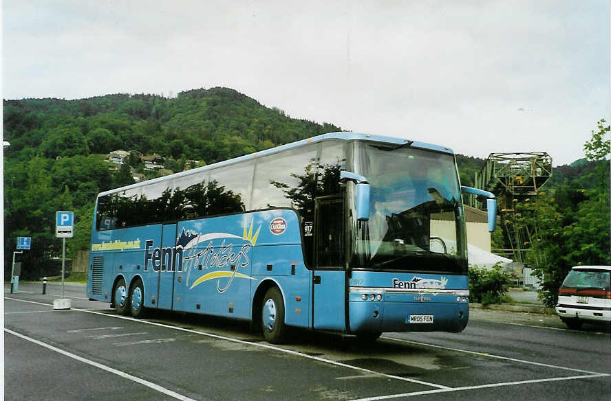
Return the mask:
<path fill-rule="evenodd" d="M 471 301 L 485 305 L 502 303 L 509 284 L 509 275 L 500 264 L 491 270 L 473 266 L 469 268 L 469 295 Z"/>

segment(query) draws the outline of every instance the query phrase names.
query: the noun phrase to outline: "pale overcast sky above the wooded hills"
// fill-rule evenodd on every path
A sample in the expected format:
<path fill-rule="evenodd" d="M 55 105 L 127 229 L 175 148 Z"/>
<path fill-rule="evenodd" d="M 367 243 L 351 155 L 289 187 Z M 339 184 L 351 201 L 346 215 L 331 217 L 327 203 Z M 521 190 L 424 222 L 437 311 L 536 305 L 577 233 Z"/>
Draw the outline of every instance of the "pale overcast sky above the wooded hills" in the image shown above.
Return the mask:
<path fill-rule="evenodd" d="M 3 0 L 2 16 L 4 99 L 229 87 L 343 130 L 554 165 L 611 120 L 608 0 Z"/>

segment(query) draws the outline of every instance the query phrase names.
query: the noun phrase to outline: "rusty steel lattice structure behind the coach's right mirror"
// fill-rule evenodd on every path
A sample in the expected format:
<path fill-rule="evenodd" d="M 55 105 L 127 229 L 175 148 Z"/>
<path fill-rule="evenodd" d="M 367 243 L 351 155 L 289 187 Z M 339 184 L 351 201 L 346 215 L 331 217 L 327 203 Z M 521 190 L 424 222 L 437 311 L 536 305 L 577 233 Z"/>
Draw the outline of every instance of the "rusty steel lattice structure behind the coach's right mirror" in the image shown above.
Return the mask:
<path fill-rule="evenodd" d="M 494 249 L 515 262 L 524 262 L 530 248 L 532 227 L 517 224 L 516 205 L 536 196 L 552 176 L 552 158 L 546 152 L 491 153 L 475 173 L 475 187 L 497 197 L 499 215 L 510 248 Z M 469 205 L 482 209 L 484 204 L 469 196 Z"/>

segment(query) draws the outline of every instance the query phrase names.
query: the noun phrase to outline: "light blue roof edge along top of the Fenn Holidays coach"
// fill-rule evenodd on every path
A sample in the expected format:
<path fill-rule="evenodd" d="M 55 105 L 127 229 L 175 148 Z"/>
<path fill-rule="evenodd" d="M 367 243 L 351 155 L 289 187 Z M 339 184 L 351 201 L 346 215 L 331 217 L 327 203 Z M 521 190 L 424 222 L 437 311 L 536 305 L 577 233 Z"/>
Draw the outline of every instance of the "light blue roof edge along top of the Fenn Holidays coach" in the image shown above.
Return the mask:
<path fill-rule="evenodd" d="M 266 156 L 268 154 L 282 152 L 283 150 L 298 148 L 299 146 L 303 146 L 307 144 L 315 144 L 317 142 L 325 141 L 329 139 L 341 139 L 344 141 L 361 140 L 361 141 L 372 141 L 372 142 L 386 142 L 388 144 L 396 144 L 396 145 L 409 144 L 411 148 L 420 148 L 420 149 L 425 149 L 425 150 L 433 150 L 435 152 L 454 154 L 454 152 L 451 149 L 445 148 L 444 146 L 427 144 L 425 142 L 419 142 L 419 141 L 411 141 L 409 139 L 404 139 L 404 138 L 385 137 L 383 135 L 370 135 L 370 134 L 360 134 L 360 133 L 352 133 L 352 132 L 327 133 L 327 134 L 317 135 L 316 137 L 311 137 L 308 139 L 301 139 L 301 141 L 291 142 L 290 144 L 277 146 L 275 148 L 261 150 L 260 152 L 255 152 L 251 154 L 246 154 L 244 156 L 235 157 L 234 159 L 228 159 L 228 160 L 219 161 L 217 163 L 213 163 L 210 165 L 204 165 L 203 167 L 194 168 L 192 170 L 186 170 L 183 172 L 178 172 L 175 174 L 158 177 L 156 179 L 142 181 L 141 183 L 127 185 L 125 187 L 114 188 L 113 190 L 100 192 L 100 194 L 98 194 L 98 197 L 108 195 L 108 194 L 113 194 L 115 192 L 132 190 L 137 187 L 143 187 L 146 185 L 158 183 L 160 181 L 167 181 L 167 180 L 174 179 L 174 178 L 181 177 L 181 176 L 189 176 L 191 174 L 197 174 L 198 172 L 212 170 L 213 168 L 222 167 L 224 165 L 231 165 L 231 164 L 239 163 L 239 162 L 250 160 L 250 159 L 255 159 L 257 157 Z"/>

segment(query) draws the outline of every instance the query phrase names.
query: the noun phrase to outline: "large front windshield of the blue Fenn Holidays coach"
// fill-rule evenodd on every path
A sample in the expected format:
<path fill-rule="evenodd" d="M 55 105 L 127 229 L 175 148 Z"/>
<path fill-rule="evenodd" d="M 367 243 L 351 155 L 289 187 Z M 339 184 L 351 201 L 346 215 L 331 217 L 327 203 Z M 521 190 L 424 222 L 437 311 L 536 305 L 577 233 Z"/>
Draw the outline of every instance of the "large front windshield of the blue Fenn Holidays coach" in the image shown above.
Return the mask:
<path fill-rule="evenodd" d="M 369 221 L 355 230 L 364 268 L 467 273 L 467 241 L 453 155 L 358 143 L 354 169 L 371 185 Z M 354 264 L 354 262 L 353 262 Z"/>

